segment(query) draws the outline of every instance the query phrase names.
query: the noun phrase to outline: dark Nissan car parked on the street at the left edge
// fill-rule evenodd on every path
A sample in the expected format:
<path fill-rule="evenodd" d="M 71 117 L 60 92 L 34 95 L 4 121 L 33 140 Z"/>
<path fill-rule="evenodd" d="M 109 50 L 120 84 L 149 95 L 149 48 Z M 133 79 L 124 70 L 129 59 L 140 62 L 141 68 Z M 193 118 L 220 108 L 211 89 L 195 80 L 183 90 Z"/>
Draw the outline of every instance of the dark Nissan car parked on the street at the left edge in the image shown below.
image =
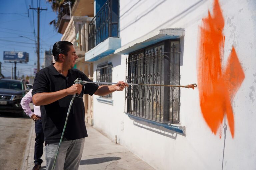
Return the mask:
<path fill-rule="evenodd" d="M 28 90 L 23 80 L 0 79 L 0 112 L 25 116 L 20 101 Z"/>

